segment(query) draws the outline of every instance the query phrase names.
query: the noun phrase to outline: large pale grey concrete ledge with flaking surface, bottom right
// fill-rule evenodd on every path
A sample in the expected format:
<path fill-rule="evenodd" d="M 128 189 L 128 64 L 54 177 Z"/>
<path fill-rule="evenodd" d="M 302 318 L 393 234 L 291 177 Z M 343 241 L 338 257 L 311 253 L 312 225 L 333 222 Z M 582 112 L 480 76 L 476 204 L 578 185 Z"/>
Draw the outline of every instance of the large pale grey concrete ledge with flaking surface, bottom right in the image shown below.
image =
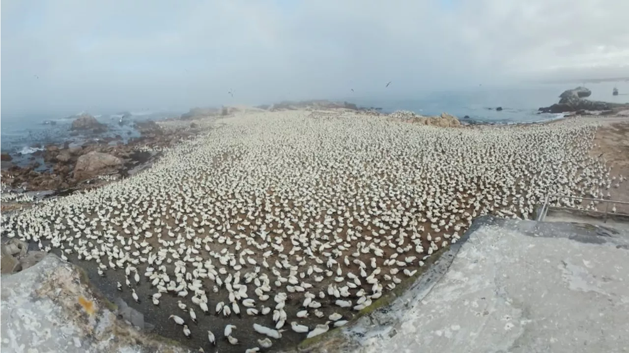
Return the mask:
<path fill-rule="evenodd" d="M 622 352 L 629 238 L 572 223 L 477 218 L 390 306 L 304 352 Z"/>

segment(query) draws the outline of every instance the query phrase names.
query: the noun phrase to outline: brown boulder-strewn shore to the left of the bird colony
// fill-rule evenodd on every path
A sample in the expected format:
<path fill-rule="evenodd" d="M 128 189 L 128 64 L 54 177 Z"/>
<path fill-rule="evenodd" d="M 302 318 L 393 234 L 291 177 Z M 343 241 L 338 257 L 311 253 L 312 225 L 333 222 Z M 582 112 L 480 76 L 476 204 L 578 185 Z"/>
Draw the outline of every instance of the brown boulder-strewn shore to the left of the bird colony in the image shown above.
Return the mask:
<path fill-rule="evenodd" d="M 120 138 L 103 137 L 76 146 L 69 142 L 45 145 L 31 154 L 28 165 L 18 165 L 12 162 L 11 155 L 0 154 L 0 186 L 13 193 L 52 191 L 52 195 L 93 188 L 137 172 L 142 165 L 159 158 L 162 148 L 199 132 L 198 123 L 189 122 L 164 125 L 142 121 L 135 128 L 140 137 L 130 138 L 127 143 Z M 93 116 L 81 115 L 71 130 L 91 132 L 97 137 L 107 126 Z"/>

